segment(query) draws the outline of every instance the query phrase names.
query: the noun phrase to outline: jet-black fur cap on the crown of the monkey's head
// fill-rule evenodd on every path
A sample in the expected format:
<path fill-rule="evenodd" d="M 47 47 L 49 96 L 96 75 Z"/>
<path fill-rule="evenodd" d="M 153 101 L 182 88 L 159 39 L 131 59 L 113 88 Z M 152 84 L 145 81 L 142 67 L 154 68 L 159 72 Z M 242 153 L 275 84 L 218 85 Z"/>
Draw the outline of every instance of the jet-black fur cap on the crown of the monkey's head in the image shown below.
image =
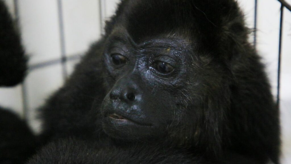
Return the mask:
<path fill-rule="evenodd" d="M 161 34 L 213 40 L 233 14 L 239 9 L 230 0 L 124 0 L 113 19 L 136 42 Z"/>

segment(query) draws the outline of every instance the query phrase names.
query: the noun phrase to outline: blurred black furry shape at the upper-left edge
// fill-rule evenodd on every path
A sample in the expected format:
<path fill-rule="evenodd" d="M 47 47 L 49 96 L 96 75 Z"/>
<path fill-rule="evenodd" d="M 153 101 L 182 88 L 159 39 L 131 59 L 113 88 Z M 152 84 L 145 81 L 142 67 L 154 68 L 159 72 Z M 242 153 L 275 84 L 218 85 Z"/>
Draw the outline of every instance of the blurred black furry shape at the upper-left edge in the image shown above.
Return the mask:
<path fill-rule="evenodd" d="M 27 58 L 3 1 L 0 1 L 0 20 L 0 86 L 14 86 L 25 76 Z"/>

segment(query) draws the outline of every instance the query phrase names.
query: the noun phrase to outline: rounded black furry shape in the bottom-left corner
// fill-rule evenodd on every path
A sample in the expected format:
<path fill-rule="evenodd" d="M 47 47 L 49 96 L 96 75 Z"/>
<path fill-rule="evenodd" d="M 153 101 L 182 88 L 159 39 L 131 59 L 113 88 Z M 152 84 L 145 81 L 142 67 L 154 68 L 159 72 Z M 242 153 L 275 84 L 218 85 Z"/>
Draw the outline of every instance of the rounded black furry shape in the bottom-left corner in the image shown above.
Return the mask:
<path fill-rule="evenodd" d="M 0 163 L 20 164 L 36 152 L 36 137 L 18 116 L 0 108 Z"/>

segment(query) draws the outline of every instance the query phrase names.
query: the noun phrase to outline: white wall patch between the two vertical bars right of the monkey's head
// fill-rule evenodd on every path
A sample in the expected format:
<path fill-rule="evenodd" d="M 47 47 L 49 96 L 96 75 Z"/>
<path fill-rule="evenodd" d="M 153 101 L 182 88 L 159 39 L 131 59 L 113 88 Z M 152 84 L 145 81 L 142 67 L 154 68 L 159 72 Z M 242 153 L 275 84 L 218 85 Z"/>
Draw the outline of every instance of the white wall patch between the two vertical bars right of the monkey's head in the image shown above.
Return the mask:
<path fill-rule="evenodd" d="M 280 7 L 278 1 L 258 1 L 257 49 L 266 64 L 274 96 L 277 95 Z"/>

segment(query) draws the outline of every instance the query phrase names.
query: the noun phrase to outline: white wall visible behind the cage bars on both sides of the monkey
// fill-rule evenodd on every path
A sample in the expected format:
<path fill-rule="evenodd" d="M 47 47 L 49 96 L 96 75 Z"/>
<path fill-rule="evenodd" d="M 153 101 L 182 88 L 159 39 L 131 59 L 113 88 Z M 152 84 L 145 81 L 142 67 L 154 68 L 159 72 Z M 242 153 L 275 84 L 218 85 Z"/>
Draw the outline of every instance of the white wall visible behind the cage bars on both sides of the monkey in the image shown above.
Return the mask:
<path fill-rule="evenodd" d="M 14 14 L 13 0 L 5 1 L 10 12 Z M 100 22 L 110 17 L 118 0 L 62 0 L 64 47 L 61 46 L 57 0 L 19 0 L 18 2 L 22 43 L 30 56 L 29 65 L 35 66 L 35 64 L 56 60 L 62 53 L 67 57 L 83 54 L 93 41 L 100 38 L 104 26 L 104 23 L 100 24 Z M 291 4 L 291 0 L 287 2 Z M 253 28 L 254 0 L 239 0 L 239 4 L 244 10 L 249 27 Z M 100 5 L 101 11 L 99 11 Z M 258 0 L 257 48 L 263 58 L 262 61 L 266 64 L 274 98 L 277 92 L 279 21 L 280 3 L 277 0 Z M 287 164 L 291 163 L 291 12 L 287 9 L 284 11 L 283 22 L 280 106 L 282 163 Z M 253 36 L 250 36 L 250 41 L 252 40 Z M 72 72 L 76 62 L 78 60 L 67 62 L 66 68 L 69 73 Z M 33 69 L 23 84 L 25 90 L 23 85 L 0 88 L 0 104 L 13 109 L 20 116 L 26 114 L 30 125 L 38 131 L 36 108 L 62 84 L 61 64 Z M 29 109 L 26 113 L 23 112 L 24 102 L 26 102 L 26 109 Z"/>

